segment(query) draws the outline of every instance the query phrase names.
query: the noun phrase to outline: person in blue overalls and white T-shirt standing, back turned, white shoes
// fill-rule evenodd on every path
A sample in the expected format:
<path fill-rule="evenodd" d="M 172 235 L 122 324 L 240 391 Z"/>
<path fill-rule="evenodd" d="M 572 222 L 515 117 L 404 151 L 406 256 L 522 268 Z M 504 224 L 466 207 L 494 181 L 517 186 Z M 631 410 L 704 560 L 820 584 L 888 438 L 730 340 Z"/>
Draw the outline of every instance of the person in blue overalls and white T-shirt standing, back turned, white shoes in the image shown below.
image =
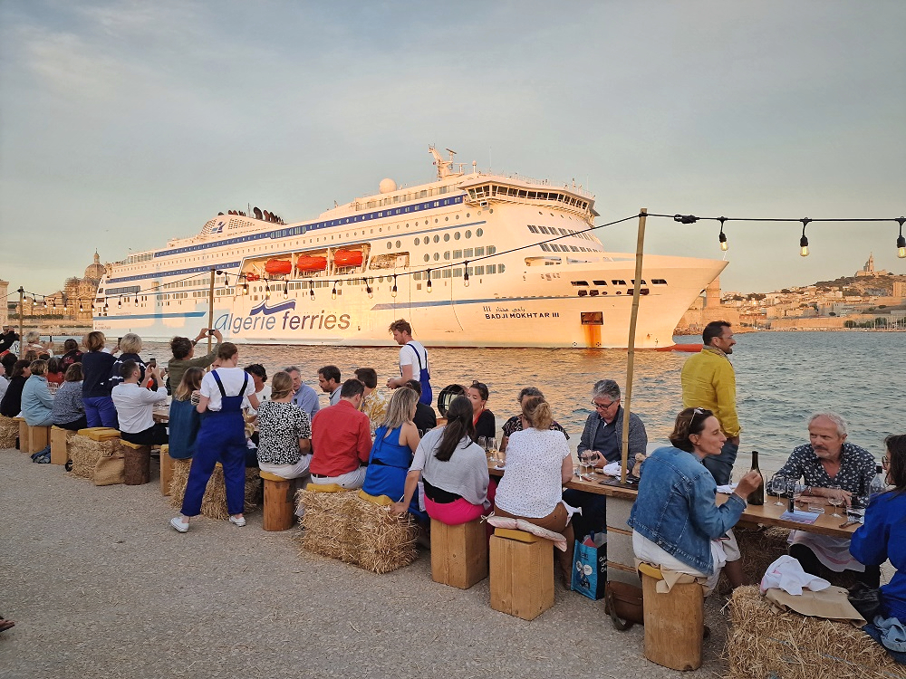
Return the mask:
<path fill-rule="evenodd" d="M 195 455 L 188 472 L 182 513 L 170 520 L 179 532 L 188 531 L 190 517 L 201 512 L 201 500 L 207 482 L 218 462 L 224 468 L 226 511 L 229 521 L 245 526 L 242 515 L 246 503 L 246 430 L 242 416 L 242 397 L 248 397 L 253 408 L 258 407 L 255 382 L 241 368 L 239 352 L 232 342 L 224 342 L 217 350 L 220 367 L 201 380 L 201 429 L 195 442 Z"/>

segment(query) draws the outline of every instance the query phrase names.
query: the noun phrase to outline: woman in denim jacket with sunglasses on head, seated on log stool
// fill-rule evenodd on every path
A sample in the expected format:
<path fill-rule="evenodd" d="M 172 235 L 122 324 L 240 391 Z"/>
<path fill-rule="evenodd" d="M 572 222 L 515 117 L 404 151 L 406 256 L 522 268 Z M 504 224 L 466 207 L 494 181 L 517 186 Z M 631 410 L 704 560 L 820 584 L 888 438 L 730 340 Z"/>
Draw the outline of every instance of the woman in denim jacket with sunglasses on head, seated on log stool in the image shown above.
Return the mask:
<path fill-rule="evenodd" d="M 680 412 L 670 435 L 673 446 L 658 448 L 642 464 L 639 497 L 629 519 L 637 559 L 707 578 L 706 593 L 717 584 L 727 560 L 722 539 L 761 483 L 761 474 L 747 473 L 718 507 L 717 484 L 701 461 L 720 454 L 726 440 L 710 410 Z"/>

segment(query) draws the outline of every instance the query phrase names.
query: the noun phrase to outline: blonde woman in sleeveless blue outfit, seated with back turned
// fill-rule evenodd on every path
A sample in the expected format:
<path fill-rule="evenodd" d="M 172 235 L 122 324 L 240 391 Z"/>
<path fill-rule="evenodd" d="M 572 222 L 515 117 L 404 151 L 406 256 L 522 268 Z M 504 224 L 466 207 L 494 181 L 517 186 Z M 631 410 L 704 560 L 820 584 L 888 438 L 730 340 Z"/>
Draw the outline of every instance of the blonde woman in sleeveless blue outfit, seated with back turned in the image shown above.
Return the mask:
<path fill-rule="evenodd" d="M 369 495 L 387 495 L 398 502 L 405 492 L 406 474 L 412 455 L 419 447 L 419 430 L 412 423 L 419 395 L 412 389 L 397 389 L 390 397 L 387 415 L 374 432 L 374 445 L 361 490 Z M 419 509 L 419 498 L 413 497 L 409 512 L 417 519 L 427 519 Z"/>

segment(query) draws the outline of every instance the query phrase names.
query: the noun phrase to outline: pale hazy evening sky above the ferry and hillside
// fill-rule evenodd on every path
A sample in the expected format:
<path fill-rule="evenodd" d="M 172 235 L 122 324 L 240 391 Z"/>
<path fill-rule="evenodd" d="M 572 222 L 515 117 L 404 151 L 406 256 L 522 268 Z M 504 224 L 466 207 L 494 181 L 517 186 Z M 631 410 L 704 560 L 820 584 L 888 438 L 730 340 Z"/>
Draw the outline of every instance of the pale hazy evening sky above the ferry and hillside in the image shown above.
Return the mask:
<path fill-rule="evenodd" d="M 896 257 L 906 3 L 0 1 L 0 278 L 46 294 L 229 208 L 311 219 L 429 144 L 595 195 L 597 224 L 725 215 L 724 290 Z M 883 218 L 799 223 L 733 217 Z M 635 223 L 598 232 L 634 250 Z M 721 258 L 650 218 L 646 252 Z"/>

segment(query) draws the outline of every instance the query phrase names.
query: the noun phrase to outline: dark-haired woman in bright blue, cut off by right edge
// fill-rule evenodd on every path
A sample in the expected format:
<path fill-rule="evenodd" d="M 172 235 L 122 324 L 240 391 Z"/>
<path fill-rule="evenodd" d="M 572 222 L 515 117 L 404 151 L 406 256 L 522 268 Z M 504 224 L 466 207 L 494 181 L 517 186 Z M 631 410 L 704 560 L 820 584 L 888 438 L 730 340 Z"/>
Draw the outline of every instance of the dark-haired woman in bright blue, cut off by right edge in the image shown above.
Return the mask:
<path fill-rule="evenodd" d="M 853 533 L 850 554 L 866 567 L 891 560 L 896 573 L 881 588 L 880 613 L 902 621 L 906 620 L 906 434 L 888 436 L 884 445 L 886 483 L 892 489 L 874 495 L 868 503 L 865 523 Z"/>

